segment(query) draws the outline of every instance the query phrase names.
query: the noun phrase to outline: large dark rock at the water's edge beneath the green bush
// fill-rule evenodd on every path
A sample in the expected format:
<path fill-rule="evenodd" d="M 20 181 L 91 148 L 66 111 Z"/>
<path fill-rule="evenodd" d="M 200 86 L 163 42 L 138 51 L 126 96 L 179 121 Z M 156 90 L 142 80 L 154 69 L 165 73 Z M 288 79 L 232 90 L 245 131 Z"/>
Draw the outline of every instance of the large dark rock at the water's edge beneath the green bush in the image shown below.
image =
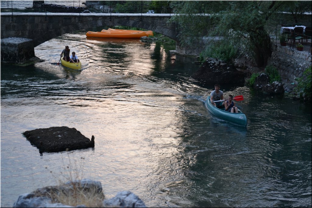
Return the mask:
<path fill-rule="evenodd" d="M 238 71 L 234 65 L 225 61 L 208 58 L 192 77 L 206 83 L 244 85 L 244 72 Z"/>

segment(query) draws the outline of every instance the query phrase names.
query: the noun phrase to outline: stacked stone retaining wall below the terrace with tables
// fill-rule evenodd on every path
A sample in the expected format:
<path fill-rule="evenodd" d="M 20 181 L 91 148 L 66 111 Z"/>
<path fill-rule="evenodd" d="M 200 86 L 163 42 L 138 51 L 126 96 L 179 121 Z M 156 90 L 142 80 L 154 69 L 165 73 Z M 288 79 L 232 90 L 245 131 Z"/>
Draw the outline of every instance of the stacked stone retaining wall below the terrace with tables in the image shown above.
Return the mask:
<path fill-rule="evenodd" d="M 282 78 L 282 84 L 287 92 L 291 92 L 297 84 L 296 78 L 301 77 L 305 69 L 311 66 L 311 53 L 298 51 L 290 46 L 277 46 L 272 48 L 272 56 L 268 65 L 277 68 Z"/>

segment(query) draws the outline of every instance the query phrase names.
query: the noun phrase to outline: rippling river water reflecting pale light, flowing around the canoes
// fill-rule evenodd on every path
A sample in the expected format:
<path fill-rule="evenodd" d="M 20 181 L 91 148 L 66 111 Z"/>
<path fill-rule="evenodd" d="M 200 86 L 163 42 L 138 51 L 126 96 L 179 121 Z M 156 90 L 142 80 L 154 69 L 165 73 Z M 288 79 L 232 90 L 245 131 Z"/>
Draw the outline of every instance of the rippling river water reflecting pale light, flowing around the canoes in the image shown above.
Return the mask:
<path fill-rule="evenodd" d="M 65 45 L 83 70 L 56 65 Z M 70 177 L 129 190 L 149 207 L 310 207 L 311 104 L 221 86 L 248 118 L 240 127 L 204 107 L 213 85 L 174 46 L 66 34 L 35 48 L 46 60 L 1 66 L 1 206 Z M 22 133 L 68 126 L 95 148 L 43 153 Z M 67 168 L 67 166 L 69 168 Z"/>

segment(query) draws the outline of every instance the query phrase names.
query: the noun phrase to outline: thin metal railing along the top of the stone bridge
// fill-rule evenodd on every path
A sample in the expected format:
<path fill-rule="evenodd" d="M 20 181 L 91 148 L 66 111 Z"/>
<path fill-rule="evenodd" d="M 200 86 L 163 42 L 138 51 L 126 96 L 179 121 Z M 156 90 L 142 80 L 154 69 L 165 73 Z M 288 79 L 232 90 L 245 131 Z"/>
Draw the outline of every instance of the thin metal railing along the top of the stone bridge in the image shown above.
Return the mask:
<path fill-rule="evenodd" d="M 166 13 L 169 1 L 1 1 L 1 12 Z"/>

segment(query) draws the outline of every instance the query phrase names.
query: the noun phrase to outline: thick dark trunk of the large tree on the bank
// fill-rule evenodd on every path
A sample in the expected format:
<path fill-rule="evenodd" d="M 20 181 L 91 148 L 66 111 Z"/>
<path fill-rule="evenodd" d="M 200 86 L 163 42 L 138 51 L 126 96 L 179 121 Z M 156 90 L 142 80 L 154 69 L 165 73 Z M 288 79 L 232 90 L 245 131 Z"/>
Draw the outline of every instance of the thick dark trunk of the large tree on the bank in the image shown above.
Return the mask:
<path fill-rule="evenodd" d="M 254 46 L 255 59 L 258 67 L 266 67 L 272 55 L 271 39 L 263 27 L 249 32 L 251 44 Z"/>

